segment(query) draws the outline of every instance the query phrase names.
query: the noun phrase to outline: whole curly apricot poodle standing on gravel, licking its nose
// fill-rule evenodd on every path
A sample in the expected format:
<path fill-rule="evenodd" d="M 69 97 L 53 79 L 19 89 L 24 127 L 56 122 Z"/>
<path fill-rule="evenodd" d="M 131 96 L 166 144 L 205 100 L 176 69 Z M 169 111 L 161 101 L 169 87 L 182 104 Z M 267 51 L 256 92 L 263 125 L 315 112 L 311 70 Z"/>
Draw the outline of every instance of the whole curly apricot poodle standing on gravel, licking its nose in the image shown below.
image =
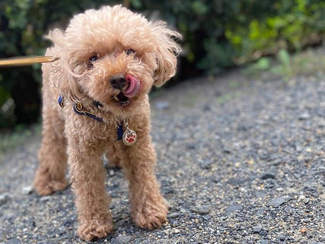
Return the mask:
<path fill-rule="evenodd" d="M 48 35 L 42 65 L 43 141 L 34 188 L 49 195 L 67 187 L 69 166 L 78 213 L 77 235 L 87 241 L 113 231 L 106 170 L 120 165 L 128 180 L 131 216 L 142 228 L 167 221 L 168 203 L 154 174 L 148 93 L 175 75 L 181 35 L 120 5 L 87 10 L 66 31 Z"/>

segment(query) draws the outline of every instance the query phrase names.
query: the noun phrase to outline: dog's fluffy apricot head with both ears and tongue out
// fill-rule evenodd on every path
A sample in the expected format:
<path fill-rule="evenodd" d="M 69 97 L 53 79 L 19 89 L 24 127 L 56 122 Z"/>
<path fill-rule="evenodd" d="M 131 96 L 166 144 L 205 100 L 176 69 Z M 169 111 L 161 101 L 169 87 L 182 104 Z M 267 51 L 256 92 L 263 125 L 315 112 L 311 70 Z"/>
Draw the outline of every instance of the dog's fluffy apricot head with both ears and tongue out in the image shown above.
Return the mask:
<path fill-rule="evenodd" d="M 65 33 L 55 29 L 49 38 L 59 92 L 121 115 L 136 112 L 152 85 L 174 76 L 180 52 L 178 33 L 121 6 L 76 15 Z"/>

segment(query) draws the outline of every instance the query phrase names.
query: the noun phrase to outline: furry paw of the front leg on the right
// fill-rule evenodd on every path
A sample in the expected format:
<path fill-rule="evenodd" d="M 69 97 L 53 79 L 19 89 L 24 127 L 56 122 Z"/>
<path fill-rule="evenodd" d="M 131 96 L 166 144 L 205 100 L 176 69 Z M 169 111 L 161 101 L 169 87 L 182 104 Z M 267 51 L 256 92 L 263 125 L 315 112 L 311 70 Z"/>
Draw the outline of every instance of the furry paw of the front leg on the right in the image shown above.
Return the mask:
<path fill-rule="evenodd" d="M 154 229 L 167 222 L 168 206 L 161 201 L 145 201 L 142 206 L 135 207 L 133 221 L 141 228 Z"/>

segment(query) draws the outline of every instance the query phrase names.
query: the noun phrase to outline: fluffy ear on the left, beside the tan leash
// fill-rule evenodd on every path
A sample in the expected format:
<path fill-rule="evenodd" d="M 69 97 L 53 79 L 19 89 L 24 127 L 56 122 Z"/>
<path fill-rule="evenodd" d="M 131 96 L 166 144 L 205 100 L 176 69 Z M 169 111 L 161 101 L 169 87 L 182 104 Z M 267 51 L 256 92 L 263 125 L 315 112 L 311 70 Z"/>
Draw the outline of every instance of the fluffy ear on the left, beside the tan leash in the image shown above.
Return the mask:
<path fill-rule="evenodd" d="M 84 95 L 80 92 L 76 74 L 78 60 L 67 50 L 67 40 L 64 32 L 54 29 L 47 36 L 54 46 L 50 49 L 51 55 L 57 58 L 53 62 L 53 82 L 59 94 L 72 102 L 78 102 Z"/>

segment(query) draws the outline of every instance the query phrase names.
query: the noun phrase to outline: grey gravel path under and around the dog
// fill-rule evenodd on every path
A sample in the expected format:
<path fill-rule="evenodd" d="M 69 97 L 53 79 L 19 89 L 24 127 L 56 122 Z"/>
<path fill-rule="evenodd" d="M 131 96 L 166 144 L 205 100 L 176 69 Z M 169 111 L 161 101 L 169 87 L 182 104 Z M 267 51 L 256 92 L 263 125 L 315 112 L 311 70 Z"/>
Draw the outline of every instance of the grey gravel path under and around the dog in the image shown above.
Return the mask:
<path fill-rule="evenodd" d="M 235 71 L 152 99 L 157 176 L 172 205 L 153 231 L 129 217 L 122 172 L 108 169 L 116 230 L 93 243 L 325 243 L 325 79 L 248 79 Z M 71 189 L 30 185 L 40 137 L 0 162 L 0 243 L 85 243 Z"/>

